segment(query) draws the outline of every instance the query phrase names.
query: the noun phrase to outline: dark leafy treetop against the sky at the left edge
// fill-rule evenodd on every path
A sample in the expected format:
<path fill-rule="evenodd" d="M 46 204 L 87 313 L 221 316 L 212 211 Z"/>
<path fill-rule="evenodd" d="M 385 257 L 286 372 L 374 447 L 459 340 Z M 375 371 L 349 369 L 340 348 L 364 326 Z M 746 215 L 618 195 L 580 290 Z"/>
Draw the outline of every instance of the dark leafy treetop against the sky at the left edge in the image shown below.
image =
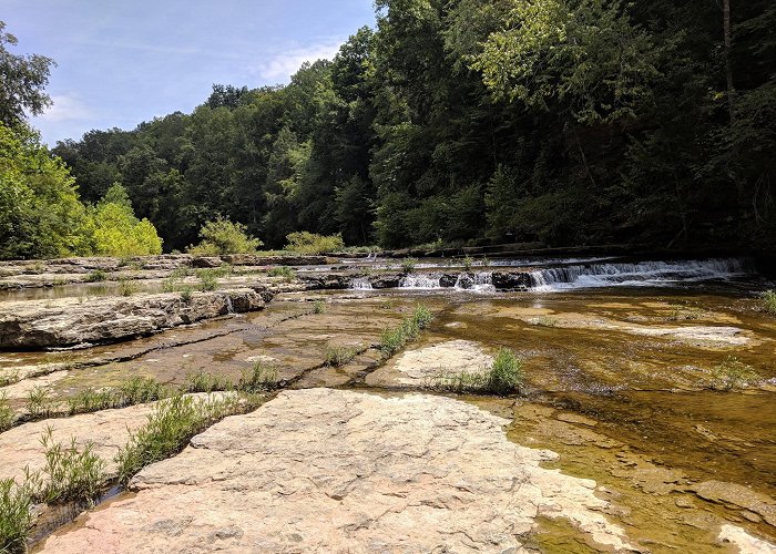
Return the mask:
<path fill-rule="evenodd" d="M 14 126 L 24 121 L 24 111 L 38 115 L 51 105 L 43 92 L 54 61 L 44 55 L 19 55 L 8 51 L 18 40 L 0 21 L 0 122 Z"/>

